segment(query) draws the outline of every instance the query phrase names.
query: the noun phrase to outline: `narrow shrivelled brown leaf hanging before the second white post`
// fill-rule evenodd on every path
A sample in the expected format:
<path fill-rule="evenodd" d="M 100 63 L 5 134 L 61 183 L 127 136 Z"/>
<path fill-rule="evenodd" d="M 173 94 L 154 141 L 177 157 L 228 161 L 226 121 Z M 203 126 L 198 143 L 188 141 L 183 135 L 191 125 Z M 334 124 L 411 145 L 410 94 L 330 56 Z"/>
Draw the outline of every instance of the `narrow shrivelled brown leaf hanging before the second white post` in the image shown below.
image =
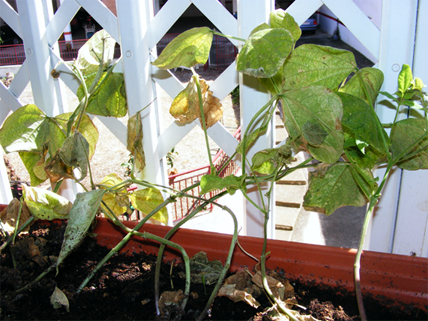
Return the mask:
<path fill-rule="evenodd" d="M 134 156 L 134 166 L 137 173 L 146 167 L 146 157 L 143 148 L 143 123 L 138 112 L 128 119 L 127 149 Z"/>

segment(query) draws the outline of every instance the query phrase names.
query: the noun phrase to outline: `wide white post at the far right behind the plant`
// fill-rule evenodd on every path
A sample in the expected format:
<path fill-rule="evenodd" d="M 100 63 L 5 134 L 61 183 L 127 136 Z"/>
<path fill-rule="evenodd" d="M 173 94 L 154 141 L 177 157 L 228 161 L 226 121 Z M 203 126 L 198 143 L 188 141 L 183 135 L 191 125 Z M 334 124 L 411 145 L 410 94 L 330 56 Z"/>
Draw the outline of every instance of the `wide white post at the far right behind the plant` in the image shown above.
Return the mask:
<path fill-rule="evenodd" d="M 423 13 L 428 14 L 426 4 L 421 5 L 419 9 L 425 10 L 419 12 L 420 17 L 423 17 Z M 413 60 L 416 57 L 414 43 L 417 10 L 417 0 L 409 0 L 406 3 L 400 0 L 384 0 L 382 3 L 379 68 L 385 75 L 382 88 L 384 91 L 394 93 L 397 90 L 397 78 L 402 64 L 413 66 Z M 422 43 L 426 42 L 422 40 L 423 30 L 418 34 L 418 45 L 421 43 L 423 49 Z M 426 51 L 420 50 L 417 54 L 421 55 L 417 60 L 420 66 L 420 61 L 426 60 Z M 417 70 L 422 73 L 419 77 L 427 83 L 427 70 L 420 67 Z M 383 123 L 392 122 L 395 115 L 394 110 L 385 107 L 378 107 L 377 113 Z M 383 175 L 383 171 L 379 170 L 378 174 Z M 400 169 L 394 171 L 374 214 L 369 245 L 371 250 L 408 255 L 410 252 L 415 252 L 418 255 L 427 255 L 426 247 L 425 253 L 422 253 L 422 246 L 420 246 L 427 231 L 428 206 L 424 203 L 428 200 L 427 181 L 426 171 L 414 173 Z M 418 233 L 419 236 L 416 236 Z M 403 239 L 407 240 L 404 242 L 406 245 Z M 414 250 L 410 250 L 411 248 Z"/>

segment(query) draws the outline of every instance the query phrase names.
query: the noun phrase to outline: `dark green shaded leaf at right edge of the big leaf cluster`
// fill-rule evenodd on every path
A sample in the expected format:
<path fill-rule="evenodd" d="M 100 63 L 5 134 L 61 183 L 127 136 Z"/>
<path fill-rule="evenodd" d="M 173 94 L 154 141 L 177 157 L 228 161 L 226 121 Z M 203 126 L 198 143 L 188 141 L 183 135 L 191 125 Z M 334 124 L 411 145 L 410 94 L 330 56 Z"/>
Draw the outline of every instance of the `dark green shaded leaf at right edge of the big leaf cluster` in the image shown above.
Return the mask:
<path fill-rule="evenodd" d="M 382 154 L 388 151 L 383 143 L 382 136 L 388 142 L 388 135 L 383 127 L 378 126 L 373 107 L 366 101 L 346 93 L 338 93 L 343 104 L 342 125 L 346 127 L 356 138 L 373 146 Z M 379 129 L 382 128 L 382 129 Z"/>

